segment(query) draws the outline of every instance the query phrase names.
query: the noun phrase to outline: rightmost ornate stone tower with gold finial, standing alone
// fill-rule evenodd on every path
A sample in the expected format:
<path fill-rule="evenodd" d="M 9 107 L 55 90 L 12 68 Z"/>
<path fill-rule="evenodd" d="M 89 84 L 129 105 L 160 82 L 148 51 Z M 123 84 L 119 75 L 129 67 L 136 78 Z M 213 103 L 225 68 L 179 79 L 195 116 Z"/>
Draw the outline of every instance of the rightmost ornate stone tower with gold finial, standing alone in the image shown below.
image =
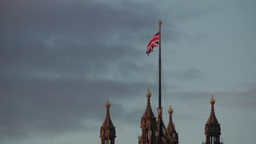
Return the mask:
<path fill-rule="evenodd" d="M 205 124 L 205 135 L 206 135 L 206 142 L 205 144 L 222 144 L 223 142 L 220 142 L 220 124 L 215 116 L 214 113 L 214 103 L 215 99 L 210 99 L 210 103 L 212 105 L 211 107 L 211 115 Z"/>

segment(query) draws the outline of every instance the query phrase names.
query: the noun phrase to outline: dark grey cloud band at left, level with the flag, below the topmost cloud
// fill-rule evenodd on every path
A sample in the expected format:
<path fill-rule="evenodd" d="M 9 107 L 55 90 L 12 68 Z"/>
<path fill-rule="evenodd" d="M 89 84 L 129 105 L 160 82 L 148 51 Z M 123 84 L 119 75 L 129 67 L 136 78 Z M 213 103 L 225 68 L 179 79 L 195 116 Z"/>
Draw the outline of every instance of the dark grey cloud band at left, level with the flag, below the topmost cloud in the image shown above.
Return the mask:
<path fill-rule="evenodd" d="M 29 45 L 29 47 L 27 47 Z M 115 58 L 125 56 L 136 56 L 135 50 L 129 51 L 132 47 L 115 45 L 107 46 L 102 44 L 83 44 L 76 45 L 73 41 L 65 39 L 53 41 L 53 49 L 41 42 L 36 44 L 20 45 L 19 49 L 10 47 L 1 49 L 0 62 L 5 70 L 15 70 L 15 73 L 26 71 L 60 71 L 65 73 L 89 73 L 93 70 L 102 70 Z M 123 47 L 123 49 L 120 49 Z M 40 49 L 42 48 L 42 49 Z M 134 64 L 134 62 L 131 62 Z M 86 70 L 86 71 L 84 71 Z M 81 75 L 81 74 L 80 74 Z"/>

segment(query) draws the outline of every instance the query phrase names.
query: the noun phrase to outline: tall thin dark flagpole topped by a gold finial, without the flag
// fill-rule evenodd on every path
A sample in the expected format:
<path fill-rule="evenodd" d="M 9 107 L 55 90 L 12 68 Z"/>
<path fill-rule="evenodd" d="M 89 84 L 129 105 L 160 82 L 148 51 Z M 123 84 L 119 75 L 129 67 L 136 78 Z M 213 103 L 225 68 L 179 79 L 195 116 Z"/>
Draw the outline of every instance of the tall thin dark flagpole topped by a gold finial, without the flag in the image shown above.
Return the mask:
<path fill-rule="evenodd" d="M 159 107 L 158 107 L 158 119 L 159 119 L 159 137 L 158 144 L 162 144 L 162 106 L 161 106 L 161 20 L 158 21 L 159 25 Z"/>

